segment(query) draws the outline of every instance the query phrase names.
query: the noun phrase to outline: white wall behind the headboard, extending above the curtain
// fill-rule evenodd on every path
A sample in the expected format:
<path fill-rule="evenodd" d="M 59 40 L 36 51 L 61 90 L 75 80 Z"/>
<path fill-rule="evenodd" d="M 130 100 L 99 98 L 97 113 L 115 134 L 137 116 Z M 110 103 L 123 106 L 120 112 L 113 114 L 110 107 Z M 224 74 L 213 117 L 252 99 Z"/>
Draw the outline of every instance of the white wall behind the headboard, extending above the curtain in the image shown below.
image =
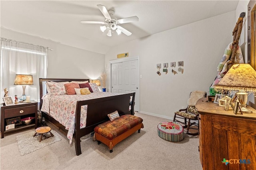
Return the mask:
<path fill-rule="evenodd" d="M 98 79 L 105 69 L 105 55 L 1 28 L 1 37 L 49 47 L 47 78 Z"/>

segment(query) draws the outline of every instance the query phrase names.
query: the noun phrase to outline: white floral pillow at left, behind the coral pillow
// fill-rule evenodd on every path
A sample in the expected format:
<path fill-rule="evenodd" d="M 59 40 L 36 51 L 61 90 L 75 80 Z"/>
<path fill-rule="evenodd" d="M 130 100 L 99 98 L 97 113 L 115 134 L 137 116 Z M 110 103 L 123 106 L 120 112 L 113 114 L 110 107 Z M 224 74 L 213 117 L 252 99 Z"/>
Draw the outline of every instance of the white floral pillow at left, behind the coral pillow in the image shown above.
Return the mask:
<path fill-rule="evenodd" d="M 47 82 L 51 96 L 67 94 L 64 84 L 69 82 Z"/>

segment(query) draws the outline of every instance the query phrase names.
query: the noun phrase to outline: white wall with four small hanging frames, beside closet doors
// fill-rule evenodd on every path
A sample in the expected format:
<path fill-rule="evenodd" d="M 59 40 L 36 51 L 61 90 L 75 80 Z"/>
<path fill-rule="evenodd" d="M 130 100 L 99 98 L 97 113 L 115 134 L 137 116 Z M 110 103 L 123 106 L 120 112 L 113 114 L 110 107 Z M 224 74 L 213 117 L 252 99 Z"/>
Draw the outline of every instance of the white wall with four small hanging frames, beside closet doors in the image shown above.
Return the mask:
<path fill-rule="evenodd" d="M 140 57 L 140 112 L 159 117 L 173 117 L 187 106 L 193 90 L 208 92 L 217 76 L 217 66 L 226 46 L 232 41 L 235 11 L 170 29 L 118 45 L 106 54 L 106 64 L 116 55 L 128 52 Z M 184 73 L 156 74 L 156 64 L 184 61 Z M 110 76 L 108 76 L 109 78 Z M 109 83 L 110 81 L 108 81 Z M 110 84 L 108 84 L 110 89 Z"/>

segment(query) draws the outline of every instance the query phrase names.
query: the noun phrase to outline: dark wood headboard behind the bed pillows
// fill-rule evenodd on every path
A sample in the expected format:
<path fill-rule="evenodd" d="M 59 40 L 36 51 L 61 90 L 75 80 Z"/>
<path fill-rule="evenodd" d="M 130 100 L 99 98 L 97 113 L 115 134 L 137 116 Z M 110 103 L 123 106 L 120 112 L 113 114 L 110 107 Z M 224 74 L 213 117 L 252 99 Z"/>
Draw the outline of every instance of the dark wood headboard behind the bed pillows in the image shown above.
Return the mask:
<path fill-rule="evenodd" d="M 40 90 L 40 109 L 42 107 L 42 97 L 44 94 L 44 83 L 43 82 L 71 82 L 71 81 L 88 81 L 90 82 L 90 79 L 72 79 L 72 78 L 39 78 L 39 90 Z"/>

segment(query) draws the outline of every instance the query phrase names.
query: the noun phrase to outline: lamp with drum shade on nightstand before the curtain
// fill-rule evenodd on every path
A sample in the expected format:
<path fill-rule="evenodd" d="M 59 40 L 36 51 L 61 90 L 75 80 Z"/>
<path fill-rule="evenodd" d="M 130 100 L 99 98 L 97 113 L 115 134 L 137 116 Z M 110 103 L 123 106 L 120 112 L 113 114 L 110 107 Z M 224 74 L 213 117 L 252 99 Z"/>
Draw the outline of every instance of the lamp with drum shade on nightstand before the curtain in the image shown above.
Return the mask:
<path fill-rule="evenodd" d="M 26 95 L 25 95 L 26 85 L 34 85 L 33 76 L 26 75 L 26 74 L 16 74 L 15 80 L 14 80 L 14 85 L 22 85 L 23 94 L 22 94 L 22 96 L 18 97 L 18 99 L 23 102 L 26 100 Z"/>

